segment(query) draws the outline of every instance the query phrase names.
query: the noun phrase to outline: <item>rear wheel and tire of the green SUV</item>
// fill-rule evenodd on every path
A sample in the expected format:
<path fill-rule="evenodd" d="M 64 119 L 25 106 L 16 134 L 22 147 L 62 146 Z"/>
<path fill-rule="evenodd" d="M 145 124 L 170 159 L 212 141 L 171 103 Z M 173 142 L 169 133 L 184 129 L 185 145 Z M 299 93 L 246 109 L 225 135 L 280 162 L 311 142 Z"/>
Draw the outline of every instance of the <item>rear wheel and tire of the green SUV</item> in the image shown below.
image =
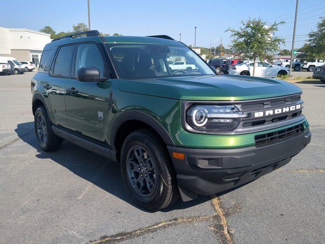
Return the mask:
<path fill-rule="evenodd" d="M 62 139 L 54 135 L 52 123 L 43 106 L 37 108 L 34 116 L 36 138 L 44 151 L 56 151 L 61 147 Z"/>

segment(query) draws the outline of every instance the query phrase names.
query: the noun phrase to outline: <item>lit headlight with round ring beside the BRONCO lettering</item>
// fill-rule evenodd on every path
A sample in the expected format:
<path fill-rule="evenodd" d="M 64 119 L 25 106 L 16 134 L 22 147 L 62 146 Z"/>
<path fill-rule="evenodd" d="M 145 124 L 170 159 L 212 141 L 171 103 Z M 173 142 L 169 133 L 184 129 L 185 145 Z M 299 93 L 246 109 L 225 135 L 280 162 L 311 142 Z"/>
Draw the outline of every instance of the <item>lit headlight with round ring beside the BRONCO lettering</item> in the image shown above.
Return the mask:
<path fill-rule="evenodd" d="M 187 124 L 199 131 L 232 131 L 245 117 L 234 105 L 193 105 L 186 111 Z"/>

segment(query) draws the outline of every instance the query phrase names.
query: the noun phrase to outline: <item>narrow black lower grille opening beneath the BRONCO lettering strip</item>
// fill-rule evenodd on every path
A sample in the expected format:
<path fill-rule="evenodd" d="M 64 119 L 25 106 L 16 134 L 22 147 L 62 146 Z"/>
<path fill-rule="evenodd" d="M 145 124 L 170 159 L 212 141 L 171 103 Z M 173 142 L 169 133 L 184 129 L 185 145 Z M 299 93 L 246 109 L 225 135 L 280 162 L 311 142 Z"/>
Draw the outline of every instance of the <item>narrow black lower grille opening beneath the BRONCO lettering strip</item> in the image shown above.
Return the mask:
<path fill-rule="evenodd" d="M 303 134 L 305 131 L 304 125 L 300 124 L 297 126 L 289 127 L 284 130 L 266 133 L 255 136 L 256 147 L 271 145 L 286 139 L 290 139 Z"/>

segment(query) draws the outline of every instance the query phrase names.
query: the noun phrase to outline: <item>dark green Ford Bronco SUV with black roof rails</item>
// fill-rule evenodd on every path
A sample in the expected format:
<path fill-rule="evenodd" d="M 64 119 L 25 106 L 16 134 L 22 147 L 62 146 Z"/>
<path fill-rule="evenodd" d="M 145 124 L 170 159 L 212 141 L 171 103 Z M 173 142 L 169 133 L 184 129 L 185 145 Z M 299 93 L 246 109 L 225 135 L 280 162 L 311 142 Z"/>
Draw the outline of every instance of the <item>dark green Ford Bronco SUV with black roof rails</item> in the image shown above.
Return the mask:
<path fill-rule="evenodd" d="M 168 36 L 54 39 L 31 92 L 43 150 L 68 140 L 119 162 L 125 188 L 151 210 L 243 185 L 311 139 L 299 87 L 219 76 Z"/>

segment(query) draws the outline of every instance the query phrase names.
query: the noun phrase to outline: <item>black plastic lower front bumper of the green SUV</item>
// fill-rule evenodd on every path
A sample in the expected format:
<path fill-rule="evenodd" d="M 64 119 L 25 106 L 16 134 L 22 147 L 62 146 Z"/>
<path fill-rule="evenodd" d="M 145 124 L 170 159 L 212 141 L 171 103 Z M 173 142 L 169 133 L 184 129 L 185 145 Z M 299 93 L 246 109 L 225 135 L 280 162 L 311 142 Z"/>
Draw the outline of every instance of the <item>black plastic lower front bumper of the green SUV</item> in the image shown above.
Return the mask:
<path fill-rule="evenodd" d="M 307 127 L 303 134 L 275 144 L 232 149 L 197 149 L 168 146 L 183 201 L 201 195 L 223 192 L 287 164 L 311 139 Z M 173 158 L 173 152 L 185 155 Z"/>

